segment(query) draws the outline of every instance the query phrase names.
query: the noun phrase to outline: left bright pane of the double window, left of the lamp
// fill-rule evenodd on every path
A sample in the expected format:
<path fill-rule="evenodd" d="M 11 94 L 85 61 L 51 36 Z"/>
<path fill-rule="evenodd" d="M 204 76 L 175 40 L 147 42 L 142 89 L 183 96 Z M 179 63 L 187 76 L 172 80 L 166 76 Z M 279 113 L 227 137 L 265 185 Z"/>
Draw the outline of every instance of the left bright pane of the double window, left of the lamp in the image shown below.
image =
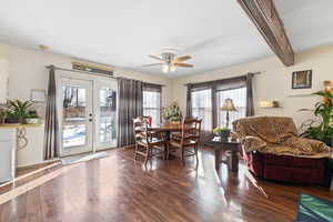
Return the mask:
<path fill-rule="evenodd" d="M 192 115 L 202 119 L 202 130 L 212 130 L 212 90 L 199 90 L 191 93 Z"/>

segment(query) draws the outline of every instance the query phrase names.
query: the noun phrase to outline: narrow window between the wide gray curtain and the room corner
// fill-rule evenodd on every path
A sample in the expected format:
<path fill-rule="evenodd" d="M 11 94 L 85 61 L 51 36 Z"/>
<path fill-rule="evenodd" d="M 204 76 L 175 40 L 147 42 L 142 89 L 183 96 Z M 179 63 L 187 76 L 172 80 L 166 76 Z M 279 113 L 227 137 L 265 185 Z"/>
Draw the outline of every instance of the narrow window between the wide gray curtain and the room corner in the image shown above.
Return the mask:
<path fill-rule="evenodd" d="M 161 85 L 145 84 L 143 87 L 143 115 L 152 117 L 152 124 L 161 122 Z"/>

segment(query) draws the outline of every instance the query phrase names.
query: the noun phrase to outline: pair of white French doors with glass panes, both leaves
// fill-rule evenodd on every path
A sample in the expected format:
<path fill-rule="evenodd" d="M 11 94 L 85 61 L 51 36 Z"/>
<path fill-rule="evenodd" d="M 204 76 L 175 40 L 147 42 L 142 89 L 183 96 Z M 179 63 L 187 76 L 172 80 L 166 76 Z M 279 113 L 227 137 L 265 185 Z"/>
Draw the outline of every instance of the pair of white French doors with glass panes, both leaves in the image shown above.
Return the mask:
<path fill-rule="evenodd" d="M 117 82 L 72 74 L 58 79 L 60 157 L 117 147 Z"/>

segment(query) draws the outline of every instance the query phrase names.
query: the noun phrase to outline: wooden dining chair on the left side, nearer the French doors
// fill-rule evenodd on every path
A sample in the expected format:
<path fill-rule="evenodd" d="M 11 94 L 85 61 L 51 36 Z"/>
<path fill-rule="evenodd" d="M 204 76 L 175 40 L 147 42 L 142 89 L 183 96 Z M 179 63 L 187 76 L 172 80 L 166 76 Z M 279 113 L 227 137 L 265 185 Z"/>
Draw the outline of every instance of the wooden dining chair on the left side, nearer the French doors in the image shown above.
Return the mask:
<path fill-rule="evenodd" d="M 135 138 L 135 153 L 144 157 L 144 165 L 154 157 L 161 155 L 165 160 L 165 142 L 161 133 L 150 129 L 148 117 L 138 117 L 133 119 L 133 130 Z"/>

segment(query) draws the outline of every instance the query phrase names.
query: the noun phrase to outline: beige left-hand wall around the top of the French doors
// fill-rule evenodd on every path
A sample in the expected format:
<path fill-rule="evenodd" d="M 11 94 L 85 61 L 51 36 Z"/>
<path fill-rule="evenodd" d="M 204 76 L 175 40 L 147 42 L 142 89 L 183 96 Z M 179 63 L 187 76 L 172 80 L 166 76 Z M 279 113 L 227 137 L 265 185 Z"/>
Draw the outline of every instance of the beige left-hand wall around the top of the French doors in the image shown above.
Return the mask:
<path fill-rule="evenodd" d="M 9 62 L 9 98 L 24 100 L 30 99 L 31 89 L 47 89 L 48 70 L 46 65 L 54 64 L 56 67 L 71 69 L 71 62 L 73 61 L 70 57 L 2 43 L 0 43 L 0 58 L 6 58 Z M 167 78 L 121 69 L 115 69 L 114 75 L 164 84 L 162 99 L 165 103 L 171 101 L 171 80 Z"/>

